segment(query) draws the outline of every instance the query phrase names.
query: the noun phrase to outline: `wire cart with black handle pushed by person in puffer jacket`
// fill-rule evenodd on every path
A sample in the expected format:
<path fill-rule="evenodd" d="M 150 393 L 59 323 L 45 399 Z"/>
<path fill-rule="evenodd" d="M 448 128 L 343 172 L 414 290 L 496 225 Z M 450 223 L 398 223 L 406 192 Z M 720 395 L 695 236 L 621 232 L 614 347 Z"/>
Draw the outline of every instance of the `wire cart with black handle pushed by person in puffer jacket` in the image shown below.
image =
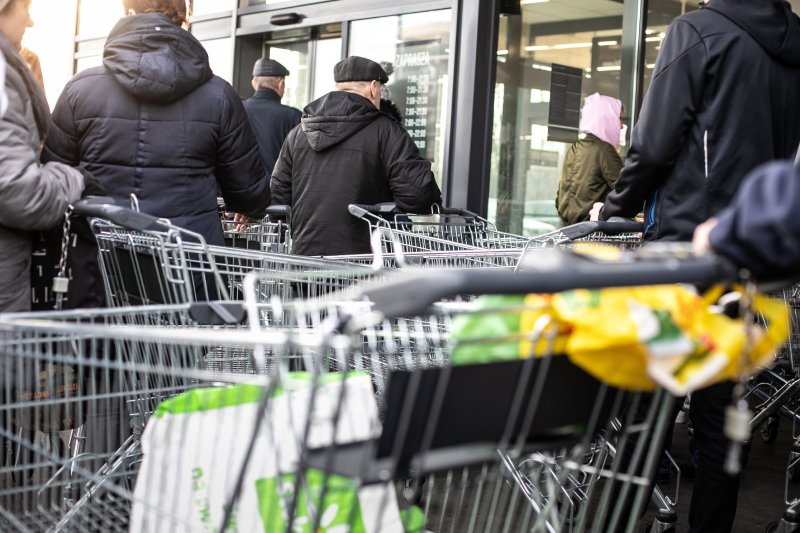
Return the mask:
<path fill-rule="evenodd" d="M 242 278 L 256 269 L 274 274 L 260 287 L 265 299 L 317 297 L 376 275 L 364 265 L 210 246 L 199 234 L 107 199 L 78 202 L 74 213 L 92 217 L 111 307 L 240 300 Z M 287 278 L 297 272 L 305 277 Z"/>

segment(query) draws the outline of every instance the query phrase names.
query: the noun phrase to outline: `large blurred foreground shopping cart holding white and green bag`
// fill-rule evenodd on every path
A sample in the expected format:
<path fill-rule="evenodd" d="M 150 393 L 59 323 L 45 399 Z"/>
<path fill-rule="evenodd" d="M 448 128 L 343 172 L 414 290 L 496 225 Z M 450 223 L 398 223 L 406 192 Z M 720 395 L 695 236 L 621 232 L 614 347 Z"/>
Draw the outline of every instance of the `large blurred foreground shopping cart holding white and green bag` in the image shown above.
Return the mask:
<path fill-rule="evenodd" d="M 731 274 L 703 260 L 611 267 L 559 257 L 516 274 L 407 274 L 338 304 L 270 309 L 251 294 L 246 327 L 207 325 L 229 317 L 203 306 L 194 315 L 166 306 L 2 317 L 0 351 L 11 362 L 2 434 L 25 452 L 15 452 L 0 493 L 3 529 L 630 531 L 658 459 L 643 435 L 657 439 L 669 423 L 668 396 L 657 393 L 640 416 L 643 396 L 553 353 L 546 318 L 524 332 L 546 348 L 538 357 L 451 365 L 448 321 L 481 311 L 430 306 L 464 292 Z M 257 285 L 250 278 L 246 294 Z M 270 312 L 280 327 L 261 326 Z M 209 362 L 234 353 L 253 364 Z M 31 379 L 43 375 L 72 378 Z M 104 392 L 98 375 L 121 385 Z M 109 400 L 120 404 L 120 425 L 144 420 L 144 431 L 97 467 L 52 433 L 85 424 Z M 53 427 L 65 418 L 72 422 Z"/>

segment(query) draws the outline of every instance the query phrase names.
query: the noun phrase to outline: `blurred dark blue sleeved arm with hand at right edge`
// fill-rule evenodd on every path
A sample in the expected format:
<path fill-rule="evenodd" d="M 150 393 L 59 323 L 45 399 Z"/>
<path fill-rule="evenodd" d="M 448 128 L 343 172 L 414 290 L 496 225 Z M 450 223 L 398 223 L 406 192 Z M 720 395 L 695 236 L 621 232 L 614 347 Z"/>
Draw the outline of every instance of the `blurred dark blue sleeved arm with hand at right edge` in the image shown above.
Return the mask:
<path fill-rule="evenodd" d="M 744 182 L 728 208 L 694 232 L 696 253 L 709 250 L 759 279 L 800 275 L 800 167 L 768 163 Z"/>

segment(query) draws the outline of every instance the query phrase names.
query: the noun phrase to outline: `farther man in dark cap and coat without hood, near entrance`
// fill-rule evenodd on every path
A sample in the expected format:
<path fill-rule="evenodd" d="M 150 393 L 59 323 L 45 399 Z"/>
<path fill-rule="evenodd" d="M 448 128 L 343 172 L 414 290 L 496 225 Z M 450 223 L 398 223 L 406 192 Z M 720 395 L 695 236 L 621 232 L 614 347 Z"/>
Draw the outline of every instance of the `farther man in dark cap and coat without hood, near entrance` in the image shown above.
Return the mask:
<path fill-rule="evenodd" d="M 250 125 L 258 139 L 261 160 L 268 173 L 275 168 L 275 160 L 286 135 L 300 124 L 299 109 L 281 104 L 289 71 L 273 59 L 261 58 L 253 65 L 253 90 L 255 94 L 244 101 Z"/>

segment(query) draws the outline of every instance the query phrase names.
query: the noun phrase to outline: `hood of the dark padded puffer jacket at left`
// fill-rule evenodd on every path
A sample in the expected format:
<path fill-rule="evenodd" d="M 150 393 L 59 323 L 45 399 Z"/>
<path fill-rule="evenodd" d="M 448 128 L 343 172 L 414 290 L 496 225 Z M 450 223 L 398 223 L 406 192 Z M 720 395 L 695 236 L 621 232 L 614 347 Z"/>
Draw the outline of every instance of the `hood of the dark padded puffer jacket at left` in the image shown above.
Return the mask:
<path fill-rule="evenodd" d="M 203 45 L 160 13 L 120 19 L 106 40 L 103 64 L 126 91 L 148 102 L 174 102 L 213 75 Z"/>

